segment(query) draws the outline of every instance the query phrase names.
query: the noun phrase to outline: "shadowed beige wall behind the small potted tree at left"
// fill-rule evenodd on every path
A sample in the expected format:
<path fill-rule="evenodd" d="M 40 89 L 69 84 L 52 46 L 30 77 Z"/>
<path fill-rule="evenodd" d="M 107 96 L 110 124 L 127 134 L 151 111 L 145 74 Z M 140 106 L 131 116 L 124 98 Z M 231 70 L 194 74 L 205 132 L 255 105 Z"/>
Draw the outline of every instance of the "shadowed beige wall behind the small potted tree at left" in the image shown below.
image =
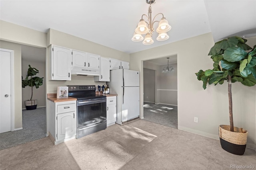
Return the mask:
<path fill-rule="evenodd" d="M 43 56 L 45 57 L 45 55 Z M 46 76 L 45 76 L 45 62 L 40 63 L 38 61 L 28 61 L 22 59 L 22 76 L 23 79 L 26 78 L 28 72 L 28 65 L 39 70 L 39 73 L 36 74 L 38 77 L 43 77 L 43 85 L 39 88 L 33 87 L 33 97 L 32 100 L 38 100 L 37 107 L 46 106 Z M 31 87 L 26 86 L 22 88 L 22 109 L 26 109 L 24 101 L 30 100 L 31 98 Z"/>

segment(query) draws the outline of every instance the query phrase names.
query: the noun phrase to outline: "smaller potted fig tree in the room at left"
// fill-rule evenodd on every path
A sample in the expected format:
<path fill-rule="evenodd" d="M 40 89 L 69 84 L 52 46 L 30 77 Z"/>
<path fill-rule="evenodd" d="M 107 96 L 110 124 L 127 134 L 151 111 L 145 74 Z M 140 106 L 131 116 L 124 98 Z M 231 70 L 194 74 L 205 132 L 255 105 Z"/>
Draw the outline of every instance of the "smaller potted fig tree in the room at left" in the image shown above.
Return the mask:
<path fill-rule="evenodd" d="M 30 100 L 25 101 L 25 106 L 27 110 L 34 110 L 37 106 L 37 100 L 32 100 L 33 97 L 33 87 L 39 88 L 39 86 L 42 86 L 43 84 L 43 77 L 37 77 L 35 76 L 37 73 L 39 73 L 38 69 L 32 68 L 30 65 L 28 65 L 28 73 L 26 78 L 23 80 L 22 78 L 22 88 L 25 88 L 26 86 L 31 87 L 31 98 Z"/>

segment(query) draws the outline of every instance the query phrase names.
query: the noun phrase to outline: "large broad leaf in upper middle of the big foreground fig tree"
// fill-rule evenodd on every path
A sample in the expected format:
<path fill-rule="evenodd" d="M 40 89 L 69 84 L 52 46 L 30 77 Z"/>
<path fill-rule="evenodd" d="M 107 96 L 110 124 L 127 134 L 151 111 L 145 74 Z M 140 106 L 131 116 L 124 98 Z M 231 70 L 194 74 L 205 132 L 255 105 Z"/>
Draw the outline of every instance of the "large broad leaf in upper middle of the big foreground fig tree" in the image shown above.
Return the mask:
<path fill-rule="evenodd" d="M 240 47 L 229 47 L 224 52 L 223 58 L 229 62 L 236 62 L 244 59 L 247 53 Z"/>

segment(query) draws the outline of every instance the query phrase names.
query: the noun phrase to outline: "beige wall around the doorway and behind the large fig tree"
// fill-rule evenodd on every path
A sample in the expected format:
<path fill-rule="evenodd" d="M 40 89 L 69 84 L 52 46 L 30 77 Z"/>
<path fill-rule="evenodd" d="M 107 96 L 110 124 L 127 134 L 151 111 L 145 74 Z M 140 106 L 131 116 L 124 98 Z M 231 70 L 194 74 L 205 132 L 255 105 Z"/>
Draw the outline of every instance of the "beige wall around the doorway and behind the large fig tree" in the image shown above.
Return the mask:
<path fill-rule="evenodd" d="M 248 39 L 255 44 L 256 37 Z M 253 46 L 251 44 L 251 46 Z M 214 45 L 211 33 L 184 39 L 175 43 L 130 54 L 130 69 L 143 72 L 142 61 L 177 54 L 178 57 L 178 129 L 190 131 L 214 139 L 218 137 L 218 125 L 229 124 L 227 83 L 202 88 L 195 72 L 212 68 L 208 57 Z M 143 75 L 143 73 L 141 74 Z M 140 78 L 140 106 L 143 106 L 143 76 Z M 248 130 L 247 147 L 255 147 L 256 86 L 240 83 L 232 85 L 234 125 Z M 140 107 L 143 117 L 143 107 Z M 198 117 L 198 123 L 194 123 Z"/>

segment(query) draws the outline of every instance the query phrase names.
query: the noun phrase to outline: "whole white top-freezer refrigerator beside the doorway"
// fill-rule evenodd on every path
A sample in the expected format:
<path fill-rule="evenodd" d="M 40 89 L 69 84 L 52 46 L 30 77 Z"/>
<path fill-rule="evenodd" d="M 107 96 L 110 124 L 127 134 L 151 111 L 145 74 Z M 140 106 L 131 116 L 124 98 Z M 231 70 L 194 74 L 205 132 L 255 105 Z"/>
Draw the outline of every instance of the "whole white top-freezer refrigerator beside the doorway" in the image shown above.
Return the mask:
<path fill-rule="evenodd" d="M 140 72 L 127 69 L 110 71 L 108 83 L 116 97 L 116 123 L 123 125 L 140 116 Z"/>

